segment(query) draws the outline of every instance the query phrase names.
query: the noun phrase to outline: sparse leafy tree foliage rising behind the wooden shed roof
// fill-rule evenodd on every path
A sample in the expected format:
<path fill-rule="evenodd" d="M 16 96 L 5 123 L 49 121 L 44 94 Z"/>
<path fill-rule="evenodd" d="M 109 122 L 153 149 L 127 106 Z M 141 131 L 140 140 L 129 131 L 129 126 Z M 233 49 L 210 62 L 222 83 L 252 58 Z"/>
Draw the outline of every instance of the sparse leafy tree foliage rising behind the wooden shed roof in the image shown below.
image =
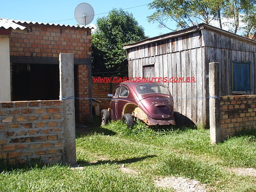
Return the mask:
<path fill-rule="evenodd" d="M 255 0 L 154 0 L 150 9 L 156 12 L 148 17 L 150 22 L 165 26 L 166 20 L 174 20 L 178 29 L 199 23 L 228 26 L 233 33 L 245 35 L 255 32 Z"/>

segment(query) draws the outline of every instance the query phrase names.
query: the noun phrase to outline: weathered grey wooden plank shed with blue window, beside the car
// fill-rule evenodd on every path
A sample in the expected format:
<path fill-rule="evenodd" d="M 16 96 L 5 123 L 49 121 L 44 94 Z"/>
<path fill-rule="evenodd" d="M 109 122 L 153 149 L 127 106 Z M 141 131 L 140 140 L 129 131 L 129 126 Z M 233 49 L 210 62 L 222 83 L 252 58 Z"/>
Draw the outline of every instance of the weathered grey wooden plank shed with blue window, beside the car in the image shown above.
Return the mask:
<path fill-rule="evenodd" d="M 256 41 L 200 24 L 124 46 L 130 77 L 194 77 L 164 83 L 174 108 L 194 124 L 209 126 L 209 63 L 220 63 L 220 96 L 256 94 Z"/>

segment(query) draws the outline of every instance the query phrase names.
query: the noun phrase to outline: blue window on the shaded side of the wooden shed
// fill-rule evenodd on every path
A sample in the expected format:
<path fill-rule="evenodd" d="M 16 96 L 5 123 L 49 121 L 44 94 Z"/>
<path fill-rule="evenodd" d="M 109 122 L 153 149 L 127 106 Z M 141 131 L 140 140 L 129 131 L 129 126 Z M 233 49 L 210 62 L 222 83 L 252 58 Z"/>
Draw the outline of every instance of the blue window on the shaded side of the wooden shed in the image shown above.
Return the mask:
<path fill-rule="evenodd" d="M 251 62 L 232 61 L 232 91 L 252 90 Z"/>

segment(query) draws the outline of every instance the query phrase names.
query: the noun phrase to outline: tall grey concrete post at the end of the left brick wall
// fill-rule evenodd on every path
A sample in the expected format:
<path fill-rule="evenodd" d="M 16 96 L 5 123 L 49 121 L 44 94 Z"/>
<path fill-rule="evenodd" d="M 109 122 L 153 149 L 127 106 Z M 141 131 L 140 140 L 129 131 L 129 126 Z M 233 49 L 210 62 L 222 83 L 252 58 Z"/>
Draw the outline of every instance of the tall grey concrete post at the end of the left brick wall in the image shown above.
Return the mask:
<path fill-rule="evenodd" d="M 74 96 L 74 55 L 60 53 L 60 99 Z M 64 164 L 76 164 L 75 101 L 63 100 Z"/>

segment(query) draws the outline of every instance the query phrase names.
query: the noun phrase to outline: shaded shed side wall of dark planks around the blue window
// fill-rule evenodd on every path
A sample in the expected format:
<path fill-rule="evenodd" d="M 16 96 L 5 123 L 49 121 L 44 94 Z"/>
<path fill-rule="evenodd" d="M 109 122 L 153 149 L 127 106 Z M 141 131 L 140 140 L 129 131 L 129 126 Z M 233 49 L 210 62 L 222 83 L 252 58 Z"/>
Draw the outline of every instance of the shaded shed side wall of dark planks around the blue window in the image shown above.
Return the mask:
<path fill-rule="evenodd" d="M 256 94 L 255 74 L 256 74 L 256 43 L 242 41 L 224 34 L 202 30 L 205 50 L 205 71 L 208 74 L 209 63 L 220 63 L 220 86 L 219 96 L 232 95 L 232 73 L 231 63 L 237 62 L 252 62 L 252 90 L 247 91 L 246 95 Z M 206 96 L 209 95 L 209 82 L 206 78 L 205 82 Z M 206 100 L 206 126 L 209 126 L 209 100 Z"/>

